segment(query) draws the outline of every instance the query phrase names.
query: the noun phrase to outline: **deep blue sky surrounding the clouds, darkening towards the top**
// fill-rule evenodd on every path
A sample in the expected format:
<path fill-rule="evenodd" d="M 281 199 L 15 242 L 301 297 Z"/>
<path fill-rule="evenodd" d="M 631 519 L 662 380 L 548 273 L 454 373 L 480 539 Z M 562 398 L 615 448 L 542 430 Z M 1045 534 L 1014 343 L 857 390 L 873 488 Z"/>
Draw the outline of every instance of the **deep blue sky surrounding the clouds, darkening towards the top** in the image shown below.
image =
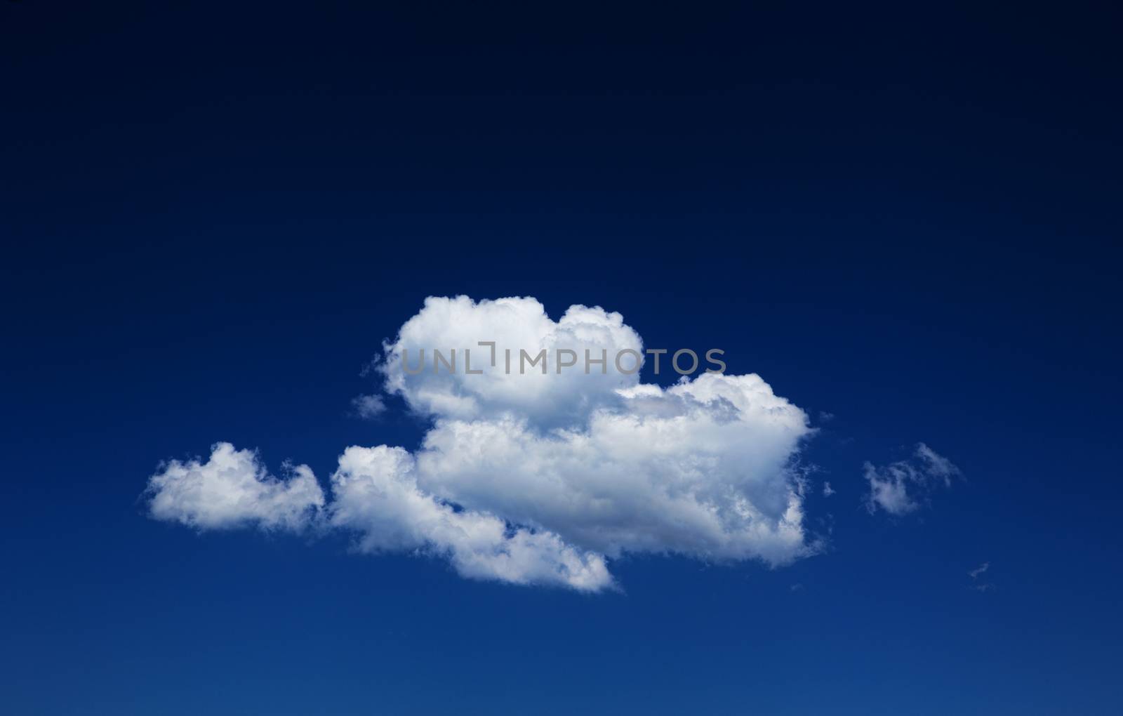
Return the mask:
<path fill-rule="evenodd" d="M 0 710 L 1119 713 L 1120 20 L 4 3 Z M 416 447 L 349 401 L 456 294 L 725 349 L 829 549 L 588 596 L 145 516 L 219 440 Z M 868 514 L 917 441 L 965 479 Z"/>

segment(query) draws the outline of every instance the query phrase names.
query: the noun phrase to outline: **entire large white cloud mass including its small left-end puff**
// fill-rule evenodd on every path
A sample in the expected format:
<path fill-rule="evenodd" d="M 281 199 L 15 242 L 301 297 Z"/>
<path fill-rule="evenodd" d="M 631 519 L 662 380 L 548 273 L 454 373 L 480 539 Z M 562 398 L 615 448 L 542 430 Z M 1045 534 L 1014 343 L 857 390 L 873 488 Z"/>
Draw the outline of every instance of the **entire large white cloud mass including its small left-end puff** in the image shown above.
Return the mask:
<path fill-rule="evenodd" d="M 475 355 L 482 375 L 402 370 L 405 351 L 481 340 L 550 355 L 642 350 L 620 314 L 599 307 L 555 322 L 533 299 L 428 299 L 380 368 L 386 391 L 432 421 L 417 452 L 347 448 L 327 501 L 308 467 L 277 479 L 254 452 L 219 443 L 206 461 L 162 466 L 148 483 L 152 516 L 200 530 L 343 530 L 363 552 L 587 591 L 612 587 L 608 561 L 628 553 L 778 566 L 815 550 L 792 467 L 807 419 L 759 376 L 663 388 L 611 359 L 603 374 L 506 374 Z"/>

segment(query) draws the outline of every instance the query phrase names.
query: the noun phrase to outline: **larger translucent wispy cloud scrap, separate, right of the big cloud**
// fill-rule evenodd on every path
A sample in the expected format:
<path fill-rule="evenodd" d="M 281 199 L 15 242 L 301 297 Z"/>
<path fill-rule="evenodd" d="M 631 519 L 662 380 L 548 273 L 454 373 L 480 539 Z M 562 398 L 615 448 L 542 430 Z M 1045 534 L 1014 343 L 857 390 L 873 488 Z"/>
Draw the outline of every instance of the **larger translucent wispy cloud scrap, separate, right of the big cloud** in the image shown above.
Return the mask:
<path fill-rule="evenodd" d="M 923 442 L 910 460 L 898 460 L 884 467 L 870 462 L 864 466 L 869 492 L 866 508 L 870 514 L 884 510 L 891 515 L 904 515 L 920 507 L 934 487 L 951 487 L 959 468 Z"/>

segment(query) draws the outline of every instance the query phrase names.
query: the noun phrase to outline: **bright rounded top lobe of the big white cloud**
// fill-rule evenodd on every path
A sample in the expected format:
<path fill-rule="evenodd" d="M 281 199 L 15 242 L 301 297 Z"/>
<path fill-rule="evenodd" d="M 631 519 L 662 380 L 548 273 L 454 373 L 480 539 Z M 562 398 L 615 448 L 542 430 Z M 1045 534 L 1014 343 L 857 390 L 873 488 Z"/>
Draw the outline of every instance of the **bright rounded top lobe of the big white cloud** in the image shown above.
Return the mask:
<path fill-rule="evenodd" d="M 480 345 L 489 341 L 495 343 L 494 352 Z M 437 366 L 435 350 L 449 362 L 455 351 L 455 373 Z M 541 362 L 531 365 L 542 350 L 545 374 Z M 562 361 L 575 361 L 560 373 L 559 350 L 573 351 L 560 354 Z M 636 355 L 624 354 L 618 366 L 615 358 L 626 350 Z M 594 361 L 606 357 L 603 373 L 595 362 L 585 373 L 585 351 Z M 642 351 L 639 334 L 623 316 L 601 307 L 573 305 L 554 321 L 536 299 L 430 296 L 386 345 L 380 370 L 386 391 L 419 413 L 460 420 L 511 414 L 557 426 L 584 422 L 595 409 L 618 402 L 619 388 L 638 385 L 633 366 L 642 365 Z M 419 366 L 421 371 L 412 375 Z M 469 367 L 483 373 L 468 375 Z"/>

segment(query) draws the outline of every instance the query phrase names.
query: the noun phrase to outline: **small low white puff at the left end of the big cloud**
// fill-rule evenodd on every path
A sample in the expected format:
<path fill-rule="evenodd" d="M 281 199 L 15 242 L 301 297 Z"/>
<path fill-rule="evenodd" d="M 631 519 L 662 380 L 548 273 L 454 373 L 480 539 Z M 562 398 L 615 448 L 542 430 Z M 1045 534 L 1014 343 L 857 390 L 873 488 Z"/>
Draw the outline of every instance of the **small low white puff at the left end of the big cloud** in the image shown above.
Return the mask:
<path fill-rule="evenodd" d="M 253 451 L 219 442 L 207 462 L 172 460 L 148 478 L 149 513 L 200 530 L 246 524 L 300 530 L 323 506 L 323 492 L 308 466 L 291 471 L 280 480 Z"/>

